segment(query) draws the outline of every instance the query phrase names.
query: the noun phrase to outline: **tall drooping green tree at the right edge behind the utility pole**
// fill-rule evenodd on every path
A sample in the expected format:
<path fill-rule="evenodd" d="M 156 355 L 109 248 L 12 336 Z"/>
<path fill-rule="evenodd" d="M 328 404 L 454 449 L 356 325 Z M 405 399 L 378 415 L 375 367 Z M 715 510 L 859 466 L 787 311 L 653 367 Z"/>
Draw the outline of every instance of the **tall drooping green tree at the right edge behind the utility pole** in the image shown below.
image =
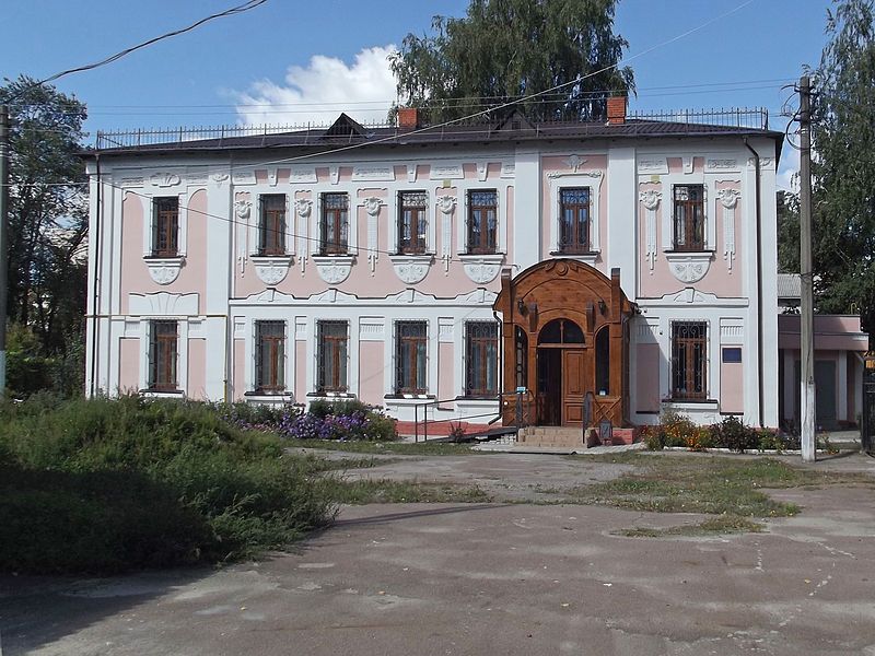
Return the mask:
<path fill-rule="evenodd" d="M 875 34 L 872 0 L 842 0 L 815 72 L 813 255 L 818 309 L 875 332 Z"/>

